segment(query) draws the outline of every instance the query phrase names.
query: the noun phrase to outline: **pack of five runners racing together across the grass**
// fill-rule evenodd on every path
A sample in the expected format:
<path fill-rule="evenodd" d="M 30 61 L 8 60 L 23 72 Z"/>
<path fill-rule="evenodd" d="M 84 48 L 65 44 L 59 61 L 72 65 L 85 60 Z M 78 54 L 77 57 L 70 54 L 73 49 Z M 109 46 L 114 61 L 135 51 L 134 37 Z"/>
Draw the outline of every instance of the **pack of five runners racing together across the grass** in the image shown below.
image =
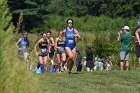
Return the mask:
<path fill-rule="evenodd" d="M 53 62 L 54 51 L 57 56 L 57 67 L 59 72 L 63 71 L 63 66 L 66 63 L 66 53 L 68 55 L 68 73 L 71 73 L 76 58 L 76 40 L 80 39 L 78 31 L 73 28 L 73 20 L 67 20 L 67 27 L 65 30 L 60 31 L 58 37 L 54 40 L 51 37 L 51 31 L 41 33 L 42 38 L 35 44 L 35 52 L 38 56 L 39 67 L 41 72 L 44 72 L 48 68 L 48 62 Z M 16 46 L 19 50 L 19 54 L 24 54 L 25 62 L 28 62 L 29 42 L 27 39 L 27 32 L 23 32 L 22 38 L 18 40 Z M 38 49 L 39 47 L 39 49 Z"/>

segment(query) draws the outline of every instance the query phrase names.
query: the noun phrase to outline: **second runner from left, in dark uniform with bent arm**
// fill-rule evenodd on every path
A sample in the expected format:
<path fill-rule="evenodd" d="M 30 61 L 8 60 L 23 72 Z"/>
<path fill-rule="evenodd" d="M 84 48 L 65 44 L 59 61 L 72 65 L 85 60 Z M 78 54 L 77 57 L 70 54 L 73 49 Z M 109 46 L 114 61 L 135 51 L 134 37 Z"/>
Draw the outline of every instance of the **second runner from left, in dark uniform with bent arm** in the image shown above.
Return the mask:
<path fill-rule="evenodd" d="M 48 62 L 49 43 L 47 41 L 47 34 L 42 33 L 42 38 L 35 45 L 35 52 L 38 56 L 41 72 L 44 72 L 44 65 Z M 39 50 L 37 49 L 39 47 Z"/>

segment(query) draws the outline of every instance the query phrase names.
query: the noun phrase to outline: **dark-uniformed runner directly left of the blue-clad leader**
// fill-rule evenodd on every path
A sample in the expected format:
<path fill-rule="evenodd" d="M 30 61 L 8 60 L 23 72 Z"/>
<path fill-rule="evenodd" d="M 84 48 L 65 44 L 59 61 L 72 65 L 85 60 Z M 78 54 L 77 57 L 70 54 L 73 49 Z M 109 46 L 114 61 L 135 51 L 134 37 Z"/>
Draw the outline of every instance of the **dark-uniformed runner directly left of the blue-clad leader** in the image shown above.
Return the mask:
<path fill-rule="evenodd" d="M 66 62 L 65 38 L 63 37 L 63 35 L 64 34 L 62 34 L 62 32 L 59 32 L 59 35 L 55 40 L 55 48 L 59 72 L 64 71 L 64 64 Z"/>

